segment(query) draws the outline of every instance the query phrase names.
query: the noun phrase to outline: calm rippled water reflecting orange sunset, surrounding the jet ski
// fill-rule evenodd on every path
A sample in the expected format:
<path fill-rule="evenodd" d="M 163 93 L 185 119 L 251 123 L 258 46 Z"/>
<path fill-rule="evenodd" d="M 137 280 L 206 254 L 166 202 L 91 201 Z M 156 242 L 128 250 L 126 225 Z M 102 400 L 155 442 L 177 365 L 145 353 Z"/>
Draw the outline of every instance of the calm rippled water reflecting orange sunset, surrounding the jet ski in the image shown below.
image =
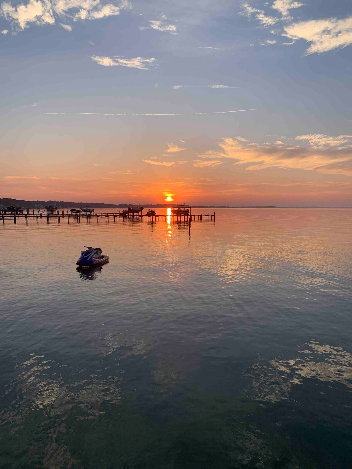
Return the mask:
<path fill-rule="evenodd" d="M 351 231 L 350 209 L 0 224 L 0 467 L 351 468 Z M 77 271 L 85 244 L 110 263 Z"/>

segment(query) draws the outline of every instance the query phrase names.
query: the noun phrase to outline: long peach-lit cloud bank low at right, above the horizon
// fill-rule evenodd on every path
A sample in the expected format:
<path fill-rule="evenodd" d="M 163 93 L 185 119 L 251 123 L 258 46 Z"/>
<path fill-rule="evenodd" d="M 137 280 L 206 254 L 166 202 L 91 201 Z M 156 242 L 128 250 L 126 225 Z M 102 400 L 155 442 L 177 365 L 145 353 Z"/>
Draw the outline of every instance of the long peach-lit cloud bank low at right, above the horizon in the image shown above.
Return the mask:
<path fill-rule="evenodd" d="M 351 150 L 343 148 L 315 149 L 301 146 L 288 147 L 283 144 L 271 146 L 249 146 L 234 138 L 223 138 L 221 151 L 207 151 L 196 160 L 199 167 L 212 166 L 216 159 L 233 159 L 235 165 L 246 165 L 245 169 L 256 171 L 270 167 L 304 169 L 324 174 L 352 176 Z"/>

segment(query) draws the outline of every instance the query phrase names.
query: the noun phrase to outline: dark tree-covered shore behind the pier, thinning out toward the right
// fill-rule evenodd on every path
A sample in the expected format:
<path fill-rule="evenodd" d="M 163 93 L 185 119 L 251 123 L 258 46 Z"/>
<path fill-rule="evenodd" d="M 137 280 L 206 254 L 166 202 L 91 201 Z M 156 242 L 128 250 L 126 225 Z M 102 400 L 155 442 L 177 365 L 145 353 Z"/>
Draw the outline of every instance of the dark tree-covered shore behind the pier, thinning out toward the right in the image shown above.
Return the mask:
<path fill-rule="evenodd" d="M 131 204 L 104 204 L 99 202 L 63 202 L 58 200 L 23 200 L 23 199 L 8 199 L 0 198 L 0 205 L 9 207 L 11 205 L 16 207 L 34 207 L 44 208 L 46 205 L 56 205 L 58 208 L 127 208 Z M 135 204 L 138 205 L 138 204 Z M 170 204 L 142 204 L 147 208 L 167 208 Z M 171 204 L 172 205 L 172 204 Z M 227 205 L 192 205 L 194 208 L 263 208 L 258 207 L 239 207 Z M 266 205 L 265 208 L 275 208 L 274 205 Z"/>

